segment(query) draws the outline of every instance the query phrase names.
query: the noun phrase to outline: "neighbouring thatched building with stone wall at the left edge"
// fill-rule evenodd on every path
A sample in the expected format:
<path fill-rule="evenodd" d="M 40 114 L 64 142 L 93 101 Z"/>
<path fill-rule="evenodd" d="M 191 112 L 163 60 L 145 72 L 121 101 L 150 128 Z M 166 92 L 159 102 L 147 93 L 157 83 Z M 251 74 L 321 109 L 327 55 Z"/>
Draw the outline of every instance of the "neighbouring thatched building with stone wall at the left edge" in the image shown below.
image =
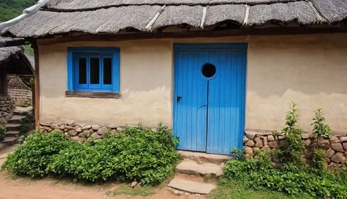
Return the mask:
<path fill-rule="evenodd" d="M 4 38 L 0 38 L 1 41 Z M 8 74 L 33 75 L 33 66 L 24 54 L 24 47 L 0 48 L 0 122 L 7 122 L 15 109 L 13 90 L 8 88 Z M 19 94 L 18 94 L 19 95 Z"/>

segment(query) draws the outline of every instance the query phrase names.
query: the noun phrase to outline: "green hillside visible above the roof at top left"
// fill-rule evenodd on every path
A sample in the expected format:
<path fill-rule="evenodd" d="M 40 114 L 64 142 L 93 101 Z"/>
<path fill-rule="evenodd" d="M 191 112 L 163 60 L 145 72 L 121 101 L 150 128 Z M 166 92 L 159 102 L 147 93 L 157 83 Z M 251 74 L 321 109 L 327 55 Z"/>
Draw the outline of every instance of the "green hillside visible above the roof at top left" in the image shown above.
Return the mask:
<path fill-rule="evenodd" d="M 0 0 L 0 22 L 17 17 L 34 4 L 35 0 Z"/>

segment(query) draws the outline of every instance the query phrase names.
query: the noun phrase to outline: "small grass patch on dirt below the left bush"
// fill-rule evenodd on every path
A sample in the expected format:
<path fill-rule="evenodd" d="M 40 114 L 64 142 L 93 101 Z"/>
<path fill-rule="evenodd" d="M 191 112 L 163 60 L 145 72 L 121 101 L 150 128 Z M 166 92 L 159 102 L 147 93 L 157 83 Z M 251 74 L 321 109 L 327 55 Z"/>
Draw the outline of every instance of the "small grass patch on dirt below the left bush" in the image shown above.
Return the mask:
<path fill-rule="evenodd" d="M 153 193 L 155 193 L 153 186 L 135 186 L 131 188 L 128 184 L 121 184 L 115 191 L 108 192 L 111 196 L 150 196 Z"/>

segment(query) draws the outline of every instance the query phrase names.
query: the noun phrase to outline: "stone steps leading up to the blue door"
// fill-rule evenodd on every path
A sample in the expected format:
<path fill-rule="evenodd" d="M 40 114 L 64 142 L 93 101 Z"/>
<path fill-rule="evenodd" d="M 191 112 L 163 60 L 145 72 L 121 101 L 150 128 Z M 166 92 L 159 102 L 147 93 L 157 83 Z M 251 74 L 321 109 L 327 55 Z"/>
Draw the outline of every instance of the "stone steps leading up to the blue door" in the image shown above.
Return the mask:
<path fill-rule="evenodd" d="M 223 174 L 227 155 L 178 151 L 183 161 L 176 166 L 175 177 L 168 189 L 175 194 L 208 194 L 216 188 L 216 180 Z"/>

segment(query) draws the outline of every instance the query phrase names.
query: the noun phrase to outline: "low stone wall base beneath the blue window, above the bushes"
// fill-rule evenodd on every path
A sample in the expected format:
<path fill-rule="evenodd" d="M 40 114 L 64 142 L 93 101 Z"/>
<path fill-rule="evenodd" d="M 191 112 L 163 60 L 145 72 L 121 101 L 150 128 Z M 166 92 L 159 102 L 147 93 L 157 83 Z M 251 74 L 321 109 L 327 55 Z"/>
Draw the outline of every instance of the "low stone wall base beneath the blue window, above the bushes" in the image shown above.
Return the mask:
<path fill-rule="evenodd" d="M 123 130 L 123 127 L 117 125 L 85 125 L 74 122 L 64 124 L 45 122 L 40 124 L 41 132 L 60 130 L 69 136 L 71 140 L 81 142 L 90 140 L 91 138 L 103 138 L 109 129 L 112 134 L 115 134 Z"/>

